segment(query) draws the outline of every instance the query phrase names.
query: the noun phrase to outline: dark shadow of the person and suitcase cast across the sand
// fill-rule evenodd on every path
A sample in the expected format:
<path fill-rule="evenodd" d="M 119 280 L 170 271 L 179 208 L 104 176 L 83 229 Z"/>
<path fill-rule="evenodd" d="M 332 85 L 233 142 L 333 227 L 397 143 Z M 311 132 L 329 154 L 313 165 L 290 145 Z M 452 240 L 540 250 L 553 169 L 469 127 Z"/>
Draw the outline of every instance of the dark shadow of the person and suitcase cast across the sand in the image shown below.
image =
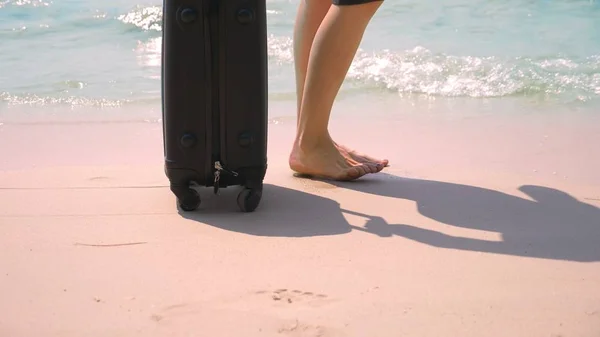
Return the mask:
<path fill-rule="evenodd" d="M 423 216 L 452 226 L 497 232 L 502 239 L 500 242 L 484 241 L 449 236 L 416 224 L 388 224 L 377 214 L 341 209 L 334 200 L 274 185 L 265 185 L 263 201 L 255 213 L 236 212 L 234 193 L 237 190 L 229 189 L 219 198 L 227 201 L 210 205 L 209 200 L 209 205 L 201 210 L 182 213 L 182 216 L 225 230 L 259 236 L 338 235 L 354 229 L 380 237 L 397 235 L 448 249 L 579 262 L 600 261 L 600 209 L 556 189 L 521 186 L 519 190 L 530 200 L 474 186 L 388 174 L 334 184 L 363 193 L 412 200 Z M 221 205 L 227 205 L 227 209 Z M 223 216 L 224 212 L 229 215 Z M 355 227 L 346 221 L 343 212 L 369 220 L 365 227 Z"/>

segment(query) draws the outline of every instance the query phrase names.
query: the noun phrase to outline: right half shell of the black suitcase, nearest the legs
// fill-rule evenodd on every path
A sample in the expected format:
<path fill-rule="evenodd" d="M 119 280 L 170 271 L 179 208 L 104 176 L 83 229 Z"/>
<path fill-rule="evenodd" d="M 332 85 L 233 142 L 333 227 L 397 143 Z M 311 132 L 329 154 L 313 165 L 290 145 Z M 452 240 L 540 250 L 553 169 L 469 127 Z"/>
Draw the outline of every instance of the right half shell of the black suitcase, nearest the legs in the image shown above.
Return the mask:
<path fill-rule="evenodd" d="M 227 168 L 262 181 L 268 118 L 266 4 L 265 0 L 221 4 L 221 154 Z"/>

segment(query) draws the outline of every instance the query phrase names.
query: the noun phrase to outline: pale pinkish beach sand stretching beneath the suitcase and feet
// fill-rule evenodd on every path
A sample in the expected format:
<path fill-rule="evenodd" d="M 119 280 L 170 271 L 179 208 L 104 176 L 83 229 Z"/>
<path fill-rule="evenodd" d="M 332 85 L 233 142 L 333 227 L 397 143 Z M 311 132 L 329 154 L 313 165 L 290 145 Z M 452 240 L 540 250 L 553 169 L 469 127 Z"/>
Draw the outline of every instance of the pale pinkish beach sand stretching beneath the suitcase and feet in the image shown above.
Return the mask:
<path fill-rule="evenodd" d="M 160 124 L 5 123 L 0 336 L 600 336 L 598 118 L 353 123 L 385 174 L 293 177 L 280 119 L 252 214 L 179 214 Z"/>

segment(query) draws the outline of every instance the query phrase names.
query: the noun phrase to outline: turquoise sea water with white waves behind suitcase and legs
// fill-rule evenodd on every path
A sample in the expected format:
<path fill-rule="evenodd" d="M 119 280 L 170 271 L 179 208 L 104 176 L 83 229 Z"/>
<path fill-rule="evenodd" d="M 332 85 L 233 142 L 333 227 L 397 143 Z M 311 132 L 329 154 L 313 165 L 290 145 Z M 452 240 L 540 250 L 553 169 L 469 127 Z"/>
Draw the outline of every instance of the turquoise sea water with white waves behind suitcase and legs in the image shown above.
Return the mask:
<path fill-rule="evenodd" d="M 267 0 L 269 86 L 293 101 L 299 0 Z M 0 109 L 160 104 L 162 3 L 0 0 Z M 388 0 L 344 90 L 598 106 L 598 0 Z"/>

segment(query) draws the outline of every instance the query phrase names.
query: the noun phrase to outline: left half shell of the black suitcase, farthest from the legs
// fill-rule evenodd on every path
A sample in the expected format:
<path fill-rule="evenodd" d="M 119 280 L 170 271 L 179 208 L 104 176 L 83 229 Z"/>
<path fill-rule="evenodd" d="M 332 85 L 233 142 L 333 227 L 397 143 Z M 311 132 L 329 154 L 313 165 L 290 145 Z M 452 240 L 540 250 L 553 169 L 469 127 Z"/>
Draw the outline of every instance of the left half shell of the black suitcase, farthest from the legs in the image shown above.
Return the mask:
<path fill-rule="evenodd" d="M 207 89 L 210 82 L 206 72 L 210 60 L 204 44 L 204 3 L 194 0 L 165 0 L 163 3 L 165 173 L 175 184 L 189 180 L 212 184 L 209 150 L 212 132 L 207 127 L 211 125 L 210 89 Z M 190 18 L 195 19 L 190 21 Z"/>

